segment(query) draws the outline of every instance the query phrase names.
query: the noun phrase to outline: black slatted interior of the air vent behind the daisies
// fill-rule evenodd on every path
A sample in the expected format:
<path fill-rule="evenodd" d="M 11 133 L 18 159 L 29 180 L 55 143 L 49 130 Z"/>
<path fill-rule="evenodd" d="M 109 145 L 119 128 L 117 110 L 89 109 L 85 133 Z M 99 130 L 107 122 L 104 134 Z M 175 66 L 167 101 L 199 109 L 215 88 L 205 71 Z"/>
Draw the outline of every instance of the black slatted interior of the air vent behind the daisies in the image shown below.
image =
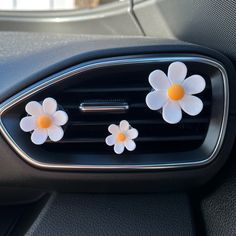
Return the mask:
<path fill-rule="evenodd" d="M 107 128 L 123 119 L 139 130 L 136 150 L 126 155 L 175 153 L 198 148 L 206 137 L 211 115 L 211 83 L 208 76 L 204 74 L 207 89 L 200 94 L 204 103 L 201 114 L 193 117 L 184 115 L 180 123 L 170 125 L 159 112 L 151 111 L 145 103 L 145 97 L 151 90 L 147 78 L 155 68 L 154 65 L 149 70 L 127 70 L 122 67 L 117 70 L 100 69 L 95 75 L 91 73 L 89 79 L 80 78 L 81 81 L 75 86 L 55 96 L 68 112 L 70 120 L 64 138 L 58 143 L 49 142 L 44 148 L 52 152 L 70 150 L 81 154 L 112 154 L 113 149 L 104 142 L 108 135 Z M 81 104 L 97 107 L 127 104 L 128 109 L 82 111 Z"/>

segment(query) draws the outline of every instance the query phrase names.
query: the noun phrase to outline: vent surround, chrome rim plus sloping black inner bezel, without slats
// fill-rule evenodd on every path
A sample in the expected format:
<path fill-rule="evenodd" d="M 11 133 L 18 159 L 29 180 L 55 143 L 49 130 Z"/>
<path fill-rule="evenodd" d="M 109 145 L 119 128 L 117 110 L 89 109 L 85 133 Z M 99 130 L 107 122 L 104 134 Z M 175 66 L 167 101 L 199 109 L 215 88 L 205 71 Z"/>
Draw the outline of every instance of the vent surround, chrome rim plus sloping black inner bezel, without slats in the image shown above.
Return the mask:
<path fill-rule="evenodd" d="M 47 90 L 51 86 L 68 81 L 75 75 L 78 76 L 88 71 L 91 72 L 101 68 L 105 69 L 112 66 L 116 67 L 121 65 L 141 66 L 147 64 L 155 64 L 156 68 L 159 68 L 158 65 L 163 64 L 166 67 L 173 61 L 182 61 L 190 64 L 193 63 L 195 65 L 202 64 L 205 66 L 205 68 L 209 68 L 210 72 L 209 80 L 211 81 L 213 98 L 211 120 L 209 123 L 209 128 L 206 134 L 205 141 L 199 148 L 194 151 L 178 152 L 172 156 L 170 156 L 169 153 L 137 154 L 135 155 L 135 161 L 129 163 L 129 159 L 128 161 L 127 159 L 125 160 L 126 154 L 124 154 L 124 157 L 115 157 L 115 155 L 112 154 L 112 147 L 108 147 L 111 151 L 111 154 L 108 155 L 105 159 L 103 154 L 83 154 L 83 158 L 80 159 L 78 162 L 76 155 L 64 154 L 63 158 L 60 157 L 58 160 L 56 159 L 56 161 L 52 161 L 50 158 L 48 158 L 47 154 L 45 155 L 44 151 L 40 146 L 33 147 L 33 145 L 31 145 L 29 148 L 30 142 L 27 141 L 27 139 L 25 138 L 23 138 L 22 140 L 22 135 L 25 137 L 28 135 L 29 139 L 29 134 L 19 133 L 19 128 L 16 132 L 16 125 L 12 125 L 15 124 L 17 120 L 19 122 L 19 116 L 16 118 L 14 116 L 14 112 L 12 113 L 14 108 L 16 109 L 19 104 L 21 104 L 22 109 L 22 106 L 26 104 L 26 101 L 29 101 L 29 99 L 31 99 L 32 97 L 37 97 L 40 93 Z M 69 68 L 65 71 L 62 71 L 32 85 L 31 87 L 25 89 L 24 91 L 7 100 L 0 107 L 0 130 L 7 139 L 7 141 L 10 143 L 10 145 L 24 160 L 40 168 L 68 170 L 78 169 L 128 171 L 196 167 L 208 164 L 209 162 L 213 161 L 220 150 L 227 125 L 229 105 L 228 94 L 229 93 L 227 73 L 224 67 L 219 62 L 211 58 L 190 54 L 179 54 L 178 56 L 169 54 L 165 56 L 140 55 L 107 58 L 103 60 L 90 61 Z M 42 98 L 42 96 L 39 97 Z M 94 156 L 96 156 L 95 159 Z M 162 156 L 162 158 L 160 158 L 160 156 Z M 182 161 L 180 161 L 181 159 Z M 86 162 L 86 160 L 93 161 L 89 163 Z M 109 160 L 112 161 L 109 162 Z"/>

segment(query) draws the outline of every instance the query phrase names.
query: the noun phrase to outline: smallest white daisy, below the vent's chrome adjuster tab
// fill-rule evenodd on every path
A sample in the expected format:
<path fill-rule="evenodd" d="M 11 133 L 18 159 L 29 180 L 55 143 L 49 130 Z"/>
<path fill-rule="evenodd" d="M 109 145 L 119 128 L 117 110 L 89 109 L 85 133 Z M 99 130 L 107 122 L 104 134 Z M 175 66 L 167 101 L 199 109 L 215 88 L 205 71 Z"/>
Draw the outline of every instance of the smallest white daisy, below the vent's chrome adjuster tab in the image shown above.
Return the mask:
<path fill-rule="evenodd" d="M 133 139 L 138 137 L 138 131 L 132 128 L 128 121 L 122 120 L 120 125 L 112 124 L 108 127 L 108 131 L 111 135 L 106 138 L 106 144 L 108 146 L 114 145 L 116 154 L 121 154 L 125 148 L 129 151 L 136 148 Z"/>

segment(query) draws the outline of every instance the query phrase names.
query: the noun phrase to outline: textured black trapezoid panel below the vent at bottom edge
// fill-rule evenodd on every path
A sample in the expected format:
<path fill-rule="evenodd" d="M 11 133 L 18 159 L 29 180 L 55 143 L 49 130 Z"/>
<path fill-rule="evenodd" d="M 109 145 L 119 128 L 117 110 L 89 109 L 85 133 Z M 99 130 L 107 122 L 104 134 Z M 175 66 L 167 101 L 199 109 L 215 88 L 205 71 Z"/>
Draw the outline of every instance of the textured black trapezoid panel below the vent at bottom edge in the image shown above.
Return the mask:
<path fill-rule="evenodd" d="M 26 236 L 195 235 L 185 194 L 55 194 Z"/>

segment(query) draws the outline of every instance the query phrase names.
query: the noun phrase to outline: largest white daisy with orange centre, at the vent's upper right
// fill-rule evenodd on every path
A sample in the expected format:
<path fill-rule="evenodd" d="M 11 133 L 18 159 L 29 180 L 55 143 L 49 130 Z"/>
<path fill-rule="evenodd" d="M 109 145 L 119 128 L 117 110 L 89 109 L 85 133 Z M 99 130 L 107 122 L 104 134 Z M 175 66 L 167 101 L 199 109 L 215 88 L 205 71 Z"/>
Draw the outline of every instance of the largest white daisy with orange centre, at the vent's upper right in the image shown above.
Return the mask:
<path fill-rule="evenodd" d="M 206 82 L 200 75 L 188 78 L 186 75 L 187 67 L 182 62 L 171 63 L 167 75 L 161 70 L 149 75 L 153 91 L 146 96 L 146 104 L 151 110 L 162 108 L 162 117 L 170 124 L 182 119 L 181 109 L 190 116 L 198 115 L 203 109 L 201 99 L 193 95 L 201 93 Z"/>

